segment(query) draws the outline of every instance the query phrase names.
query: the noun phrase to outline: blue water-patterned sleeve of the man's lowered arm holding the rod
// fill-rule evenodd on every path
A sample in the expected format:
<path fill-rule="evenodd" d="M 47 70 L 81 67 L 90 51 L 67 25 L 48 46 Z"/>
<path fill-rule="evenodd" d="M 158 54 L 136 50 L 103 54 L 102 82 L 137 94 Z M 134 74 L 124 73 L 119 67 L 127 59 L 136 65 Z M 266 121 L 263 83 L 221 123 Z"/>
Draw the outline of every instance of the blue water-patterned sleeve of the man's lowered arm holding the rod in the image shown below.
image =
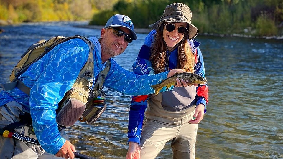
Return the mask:
<path fill-rule="evenodd" d="M 88 44 L 81 39 L 71 39 L 54 47 L 27 71 L 26 78 L 35 76 L 33 79 L 37 79 L 29 100 L 34 132 L 42 148 L 53 155 L 66 141 L 60 136 L 56 122 L 58 103 L 72 87 L 88 54 Z"/>

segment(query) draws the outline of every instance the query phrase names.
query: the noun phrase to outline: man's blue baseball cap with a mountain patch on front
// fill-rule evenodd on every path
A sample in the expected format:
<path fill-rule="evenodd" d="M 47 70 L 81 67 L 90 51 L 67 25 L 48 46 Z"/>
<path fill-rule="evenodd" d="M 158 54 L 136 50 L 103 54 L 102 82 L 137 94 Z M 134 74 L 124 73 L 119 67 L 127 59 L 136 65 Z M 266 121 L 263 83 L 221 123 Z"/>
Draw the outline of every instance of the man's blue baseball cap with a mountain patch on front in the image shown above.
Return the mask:
<path fill-rule="evenodd" d="M 109 27 L 127 28 L 131 31 L 133 39 L 134 40 L 137 39 L 136 32 L 134 31 L 134 24 L 128 16 L 121 15 L 121 14 L 113 15 L 110 19 L 108 19 L 104 28 L 107 29 Z"/>

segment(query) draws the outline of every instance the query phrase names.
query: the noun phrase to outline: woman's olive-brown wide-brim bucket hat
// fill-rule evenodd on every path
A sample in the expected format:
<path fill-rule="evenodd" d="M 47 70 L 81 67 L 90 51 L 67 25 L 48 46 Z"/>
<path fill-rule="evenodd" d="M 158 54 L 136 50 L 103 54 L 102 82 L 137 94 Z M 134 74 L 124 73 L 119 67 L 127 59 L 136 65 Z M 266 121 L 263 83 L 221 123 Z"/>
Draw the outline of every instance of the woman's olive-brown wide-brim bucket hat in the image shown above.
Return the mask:
<path fill-rule="evenodd" d="M 182 23 L 188 24 L 188 39 L 191 40 L 198 35 L 198 28 L 191 23 L 192 11 L 183 3 L 173 3 L 168 5 L 159 21 L 149 25 L 149 28 L 157 30 L 162 23 Z"/>

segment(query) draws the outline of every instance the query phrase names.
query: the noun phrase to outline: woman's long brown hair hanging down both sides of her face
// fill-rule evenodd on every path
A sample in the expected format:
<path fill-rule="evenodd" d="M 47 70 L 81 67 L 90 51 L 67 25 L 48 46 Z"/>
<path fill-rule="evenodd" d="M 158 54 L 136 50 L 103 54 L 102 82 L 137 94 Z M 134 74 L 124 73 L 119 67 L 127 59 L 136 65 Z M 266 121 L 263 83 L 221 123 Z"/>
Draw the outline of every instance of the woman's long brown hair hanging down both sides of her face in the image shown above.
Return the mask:
<path fill-rule="evenodd" d="M 168 49 L 162 32 L 163 27 L 159 27 L 155 34 L 154 41 L 152 43 L 151 56 L 149 57 L 154 68 L 154 73 L 164 72 L 165 64 L 167 63 L 167 60 L 169 60 L 166 58 Z M 194 73 L 195 56 L 192 53 L 190 44 L 188 43 L 187 34 L 188 33 L 184 35 L 185 40 L 182 40 L 179 44 L 177 44 L 178 59 L 176 69 L 182 69 L 184 71 Z"/>

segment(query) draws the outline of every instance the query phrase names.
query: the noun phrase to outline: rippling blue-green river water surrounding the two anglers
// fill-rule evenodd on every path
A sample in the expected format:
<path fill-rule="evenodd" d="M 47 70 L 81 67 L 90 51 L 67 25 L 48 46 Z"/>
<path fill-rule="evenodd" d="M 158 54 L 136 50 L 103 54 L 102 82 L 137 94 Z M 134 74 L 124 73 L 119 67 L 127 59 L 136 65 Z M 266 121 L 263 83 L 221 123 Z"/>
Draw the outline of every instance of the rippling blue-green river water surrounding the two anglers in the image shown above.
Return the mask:
<path fill-rule="evenodd" d="M 74 27 L 86 22 L 28 23 L 1 27 L 0 82 L 33 43 L 52 36 L 100 36 Z M 115 58 L 131 70 L 146 34 Z M 282 40 L 198 36 L 209 86 L 207 113 L 199 124 L 196 158 L 283 158 Z M 107 88 L 106 88 L 107 89 Z M 107 89 L 108 106 L 93 125 L 67 129 L 77 152 L 96 158 L 125 158 L 130 96 Z M 157 158 L 172 158 L 167 143 Z"/>

